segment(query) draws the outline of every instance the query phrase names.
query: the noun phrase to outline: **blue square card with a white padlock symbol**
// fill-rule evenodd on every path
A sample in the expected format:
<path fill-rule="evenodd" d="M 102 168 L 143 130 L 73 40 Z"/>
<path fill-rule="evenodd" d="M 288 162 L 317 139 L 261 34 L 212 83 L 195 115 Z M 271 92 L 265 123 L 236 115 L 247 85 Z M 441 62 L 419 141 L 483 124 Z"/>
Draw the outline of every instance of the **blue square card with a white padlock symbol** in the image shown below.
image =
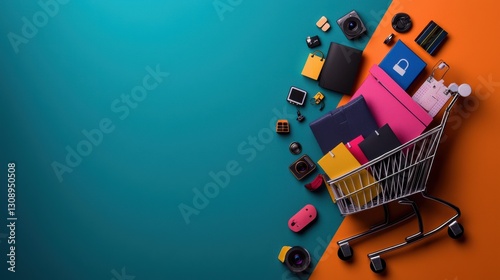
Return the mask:
<path fill-rule="evenodd" d="M 408 89 L 427 64 L 399 40 L 379 64 L 401 88 Z"/>

